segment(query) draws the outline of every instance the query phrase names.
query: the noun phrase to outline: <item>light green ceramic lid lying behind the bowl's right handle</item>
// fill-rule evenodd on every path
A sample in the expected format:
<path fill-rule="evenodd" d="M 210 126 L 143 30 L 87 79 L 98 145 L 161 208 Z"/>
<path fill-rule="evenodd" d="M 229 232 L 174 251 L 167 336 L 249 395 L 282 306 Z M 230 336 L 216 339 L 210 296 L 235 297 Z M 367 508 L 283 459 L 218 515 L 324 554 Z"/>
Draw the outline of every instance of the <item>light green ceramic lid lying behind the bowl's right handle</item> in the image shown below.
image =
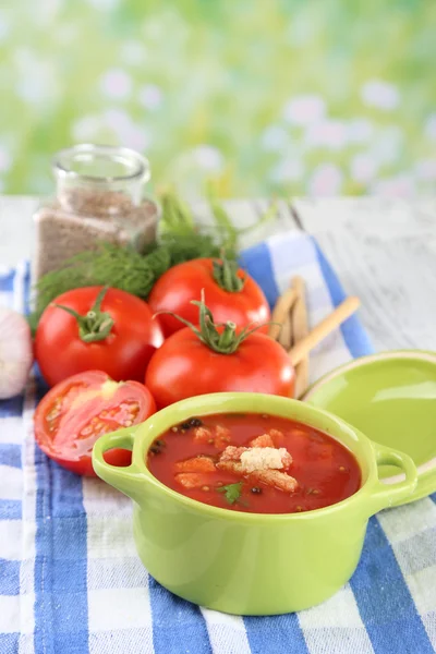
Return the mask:
<path fill-rule="evenodd" d="M 314 384 L 304 400 L 336 413 L 372 440 L 410 455 L 420 476 L 408 501 L 436 491 L 435 352 L 401 350 L 355 359 Z M 390 482 L 396 475 L 396 469 L 380 470 Z"/>

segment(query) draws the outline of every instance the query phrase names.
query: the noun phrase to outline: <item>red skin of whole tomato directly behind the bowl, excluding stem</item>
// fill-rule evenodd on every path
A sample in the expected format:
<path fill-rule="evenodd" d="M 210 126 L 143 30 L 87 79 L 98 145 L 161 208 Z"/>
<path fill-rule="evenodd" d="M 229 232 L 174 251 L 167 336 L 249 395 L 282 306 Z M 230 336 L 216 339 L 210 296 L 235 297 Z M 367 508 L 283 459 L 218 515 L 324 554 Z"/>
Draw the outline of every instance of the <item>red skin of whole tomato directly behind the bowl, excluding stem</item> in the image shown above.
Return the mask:
<path fill-rule="evenodd" d="M 255 331 L 233 354 L 219 354 L 185 327 L 155 352 L 145 384 L 158 409 L 209 392 L 293 397 L 294 370 L 286 350 L 265 334 Z"/>

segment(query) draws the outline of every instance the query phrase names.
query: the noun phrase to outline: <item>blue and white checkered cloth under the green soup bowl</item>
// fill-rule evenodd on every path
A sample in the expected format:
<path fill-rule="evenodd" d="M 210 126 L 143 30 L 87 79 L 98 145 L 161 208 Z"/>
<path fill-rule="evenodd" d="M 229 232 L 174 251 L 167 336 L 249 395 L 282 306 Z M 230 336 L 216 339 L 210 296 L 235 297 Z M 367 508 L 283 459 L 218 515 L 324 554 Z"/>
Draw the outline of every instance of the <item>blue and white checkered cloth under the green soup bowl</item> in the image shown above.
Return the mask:
<path fill-rule="evenodd" d="M 311 322 L 343 299 L 315 242 L 275 238 L 244 253 L 274 303 L 291 275 L 308 286 Z M 0 276 L 0 302 L 23 310 L 25 266 Z M 319 346 L 312 374 L 366 354 L 350 318 Z M 133 544 L 131 502 L 52 463 L 33 439 L 38 388 L 0 402 L 0 654 L 428 654 L 436 646 L 436 496 L 372 518 L 358 571 L 320 606 L 228 616 L 179 600 Z"/>

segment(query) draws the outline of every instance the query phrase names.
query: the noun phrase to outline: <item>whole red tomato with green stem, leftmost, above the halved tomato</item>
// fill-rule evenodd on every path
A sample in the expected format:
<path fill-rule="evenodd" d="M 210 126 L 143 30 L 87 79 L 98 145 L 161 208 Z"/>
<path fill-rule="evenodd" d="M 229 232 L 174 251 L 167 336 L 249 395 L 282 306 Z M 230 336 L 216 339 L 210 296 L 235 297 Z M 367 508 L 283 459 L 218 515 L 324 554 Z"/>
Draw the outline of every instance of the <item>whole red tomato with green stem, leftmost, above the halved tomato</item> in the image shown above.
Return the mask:
<path fill-rule="evenodd" d="M 89 370 L 143 382 L 162 341 L 146 302 L 119 289 L 86 287 L 59 295 L 43 313 L 35 358 L 50 386 Z"/>

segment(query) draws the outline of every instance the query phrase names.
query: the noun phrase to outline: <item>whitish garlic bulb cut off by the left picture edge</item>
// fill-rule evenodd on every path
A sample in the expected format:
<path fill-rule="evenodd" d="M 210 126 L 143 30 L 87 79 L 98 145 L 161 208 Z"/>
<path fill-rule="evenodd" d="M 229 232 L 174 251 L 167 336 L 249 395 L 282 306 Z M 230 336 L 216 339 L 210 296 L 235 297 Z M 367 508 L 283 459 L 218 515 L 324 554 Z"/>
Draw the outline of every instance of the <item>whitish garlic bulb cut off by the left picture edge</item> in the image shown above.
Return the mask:
<path fill-rule="evenodd" d="M 11 308 L 0 307 L 0 399 L 21 392 L 33 362 L 31 328 Z"/>

